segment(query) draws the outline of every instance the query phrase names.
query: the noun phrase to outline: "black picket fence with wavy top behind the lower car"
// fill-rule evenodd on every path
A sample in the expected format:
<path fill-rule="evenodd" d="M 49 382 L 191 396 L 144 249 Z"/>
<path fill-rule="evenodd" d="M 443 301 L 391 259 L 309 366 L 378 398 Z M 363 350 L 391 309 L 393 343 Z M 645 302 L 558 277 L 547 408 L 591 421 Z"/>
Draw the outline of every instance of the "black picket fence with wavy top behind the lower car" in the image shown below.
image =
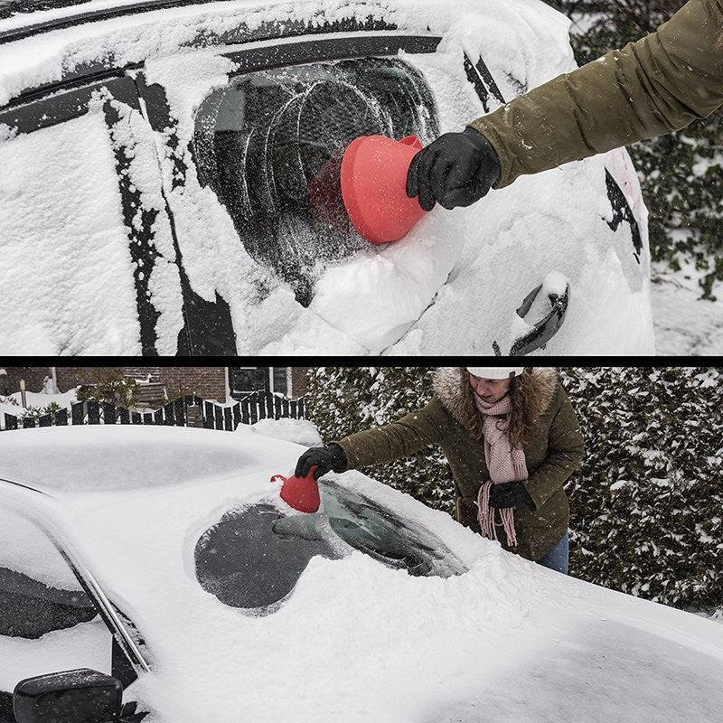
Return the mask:
<path fill-rule="evenodd" d="M 230 407 L 221 407 L 189 394 L 154 411 L 138 412 L 115 404 L 79 401 L 54 414 L 15 417 L 5 413 L 5 429 L 63 427 L 81 424 L 153 424 L 166 427 L 203 427 L 232 432 L 239 424 L 256 424 L 261 419 L 304 419 L 304 398 L 286 399 L 271 392 L 254 392 Z"/>

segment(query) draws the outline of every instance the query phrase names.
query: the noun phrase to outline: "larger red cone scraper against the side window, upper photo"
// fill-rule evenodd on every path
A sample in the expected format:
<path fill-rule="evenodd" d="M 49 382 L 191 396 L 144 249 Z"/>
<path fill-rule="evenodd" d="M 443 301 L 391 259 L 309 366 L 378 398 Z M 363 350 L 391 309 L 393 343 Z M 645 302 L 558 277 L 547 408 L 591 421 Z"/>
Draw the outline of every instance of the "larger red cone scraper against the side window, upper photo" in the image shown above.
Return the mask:
<path fill-rule="evenodd" d="M 360 136 L 342 159 L 342 198 L 354 228 L 371 243 L 402 238 L 427 213 L 407 195 L 407 172 L 422 149 L 417 136 Z"/>

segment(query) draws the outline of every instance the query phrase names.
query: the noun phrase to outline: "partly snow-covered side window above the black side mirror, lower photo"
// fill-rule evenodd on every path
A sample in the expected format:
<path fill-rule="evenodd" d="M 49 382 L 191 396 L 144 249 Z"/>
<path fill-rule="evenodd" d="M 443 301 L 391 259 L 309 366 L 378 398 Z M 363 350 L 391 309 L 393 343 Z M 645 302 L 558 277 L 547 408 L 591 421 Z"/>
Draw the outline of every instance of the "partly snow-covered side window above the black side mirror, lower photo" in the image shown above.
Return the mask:
<path fill-rule="evenodd" d="M 110 672 L 111 650 L 108 628 L 50 537 L 0 506 L 0 693 L 48 672 Z"/>

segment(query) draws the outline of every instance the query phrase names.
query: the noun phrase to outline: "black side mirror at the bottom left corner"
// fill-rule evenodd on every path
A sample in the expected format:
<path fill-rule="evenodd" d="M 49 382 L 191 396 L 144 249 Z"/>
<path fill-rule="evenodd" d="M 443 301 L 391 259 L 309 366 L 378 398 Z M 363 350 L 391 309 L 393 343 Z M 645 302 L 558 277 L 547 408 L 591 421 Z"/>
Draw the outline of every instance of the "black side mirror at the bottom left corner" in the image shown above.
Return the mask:
<path fill-rule="evenodd" d="M 13 693 L 17 723 L 108 723 L 120 718 L 117 678 L 80 668 L 20 681 Z"/>

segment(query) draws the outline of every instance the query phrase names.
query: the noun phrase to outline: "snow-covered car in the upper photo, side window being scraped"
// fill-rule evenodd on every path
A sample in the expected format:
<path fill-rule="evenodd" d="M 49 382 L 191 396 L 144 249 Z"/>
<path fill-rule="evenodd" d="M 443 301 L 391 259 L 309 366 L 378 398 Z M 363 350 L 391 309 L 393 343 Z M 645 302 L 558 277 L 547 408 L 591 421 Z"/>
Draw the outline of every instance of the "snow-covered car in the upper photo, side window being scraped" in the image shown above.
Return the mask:
<path fill-rule="evenodd" d="M 381 245 L 323 173 L 573 68 L 543 2 L 71 3 L 0 20 L 5 352 L 653 352 L 624 150 Z"/>

